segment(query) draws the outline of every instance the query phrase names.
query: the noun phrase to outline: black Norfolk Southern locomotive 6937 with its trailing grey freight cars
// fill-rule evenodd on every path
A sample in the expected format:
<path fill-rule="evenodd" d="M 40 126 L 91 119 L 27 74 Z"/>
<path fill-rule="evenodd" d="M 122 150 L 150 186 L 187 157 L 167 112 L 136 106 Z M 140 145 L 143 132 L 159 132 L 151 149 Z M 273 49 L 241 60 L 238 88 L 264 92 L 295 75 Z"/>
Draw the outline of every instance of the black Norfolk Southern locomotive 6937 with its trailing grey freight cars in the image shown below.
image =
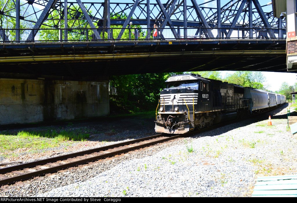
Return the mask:
<path fill-rule="evenodd" d="M 155 130 L 182 134 L 221 120 L 244 117 L 282 105 L 284 95 L 241 87 L 196 74 L 175 75 L 160 92 Z"/>

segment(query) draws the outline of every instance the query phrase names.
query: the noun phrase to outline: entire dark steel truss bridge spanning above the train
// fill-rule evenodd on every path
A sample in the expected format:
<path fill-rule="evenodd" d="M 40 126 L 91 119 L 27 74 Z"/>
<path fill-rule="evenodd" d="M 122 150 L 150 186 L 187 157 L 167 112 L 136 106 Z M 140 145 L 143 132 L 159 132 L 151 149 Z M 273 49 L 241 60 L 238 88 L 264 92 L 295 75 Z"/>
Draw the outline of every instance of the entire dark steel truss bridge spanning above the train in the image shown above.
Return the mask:
<path fill-rule="evenodd" d="M 286 71 L 286 21 L 273 17 L 271 5 L 111 1 L 1 0 L 0 75 Z"/>

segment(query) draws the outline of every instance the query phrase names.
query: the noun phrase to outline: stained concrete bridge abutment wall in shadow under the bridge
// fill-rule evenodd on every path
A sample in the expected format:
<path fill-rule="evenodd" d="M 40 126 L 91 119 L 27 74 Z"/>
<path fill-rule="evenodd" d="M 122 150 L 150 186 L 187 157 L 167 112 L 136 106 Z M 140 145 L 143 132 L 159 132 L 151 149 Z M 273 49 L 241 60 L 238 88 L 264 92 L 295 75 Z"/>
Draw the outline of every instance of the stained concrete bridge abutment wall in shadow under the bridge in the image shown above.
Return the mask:
<path fill-rule="evenodd" d="M 70 120 L 109 114 L 106 81 L 0 79 L 0 124 Z"/>

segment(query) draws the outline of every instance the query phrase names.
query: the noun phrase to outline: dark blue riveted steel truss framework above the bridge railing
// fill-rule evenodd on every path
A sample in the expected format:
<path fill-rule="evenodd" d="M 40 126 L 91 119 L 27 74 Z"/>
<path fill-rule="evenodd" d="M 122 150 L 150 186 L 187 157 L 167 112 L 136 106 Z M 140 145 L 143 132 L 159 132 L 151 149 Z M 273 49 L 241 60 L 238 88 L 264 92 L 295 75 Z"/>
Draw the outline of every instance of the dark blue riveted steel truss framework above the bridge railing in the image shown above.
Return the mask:
<path fill-rule="evenodd" d="M 269 6 L 261 6 L 258 0 L 233 0 L 223 6 L 220 0 L 210 0 L 199 5 L 196 0 L 168 0 L 165 4 L 161 4 L 159 0 L 156 0 L 156 3 L 152 2 L 153 0 L 127 0 L 126 2 L 119 1 L 119 3 L 111 3 L 110 0 L 98 1 L 10 0 L 10 3 L 7 1 L 0 8 L 0 17 L 5 16 L 10 20 L 10 23 L 2 25 L 0 37 L 7 41 L 10 37 L 15 36 L 18 41 L 20 31 L 9 29 L 34 28 L 27 38 L 30 41 L 40 28 L 98 28 L 111 25 L 127 28 L 129 22 L 148 28 L 151 28 L 155 23 L 159 28 L 170 27 L 176 38 L 175 27 L 265 29 L 286 26 L 285 20 L 279 21 L 273 17 L 271 6 L 268 9 L 269 12 L 264 12 L 263 8 Z M 121 19 L 123 16 L 132 19 Z M 67 23 L 65 23 L 66 21 Z M 6 30 L 4 31 L 2 28 Z M 232 29 L 228 32 L 226 36 L 231 34 Z M 94 31 L 96 39 L 100 39 L 99 34 L 99 31 Z M 221 34 L 218 33 L 217 37 L 220 37 Z M 270 37 L 274 35 L 272 32 L 268 34 Z M 67 30 L 64 35 L 64 39 L 67 39 Z M 186 31 L 184 31 L 184 35 L 187 35 Z M 118 39 L 120 38 L 121 33 L 118 36 Z"/>

